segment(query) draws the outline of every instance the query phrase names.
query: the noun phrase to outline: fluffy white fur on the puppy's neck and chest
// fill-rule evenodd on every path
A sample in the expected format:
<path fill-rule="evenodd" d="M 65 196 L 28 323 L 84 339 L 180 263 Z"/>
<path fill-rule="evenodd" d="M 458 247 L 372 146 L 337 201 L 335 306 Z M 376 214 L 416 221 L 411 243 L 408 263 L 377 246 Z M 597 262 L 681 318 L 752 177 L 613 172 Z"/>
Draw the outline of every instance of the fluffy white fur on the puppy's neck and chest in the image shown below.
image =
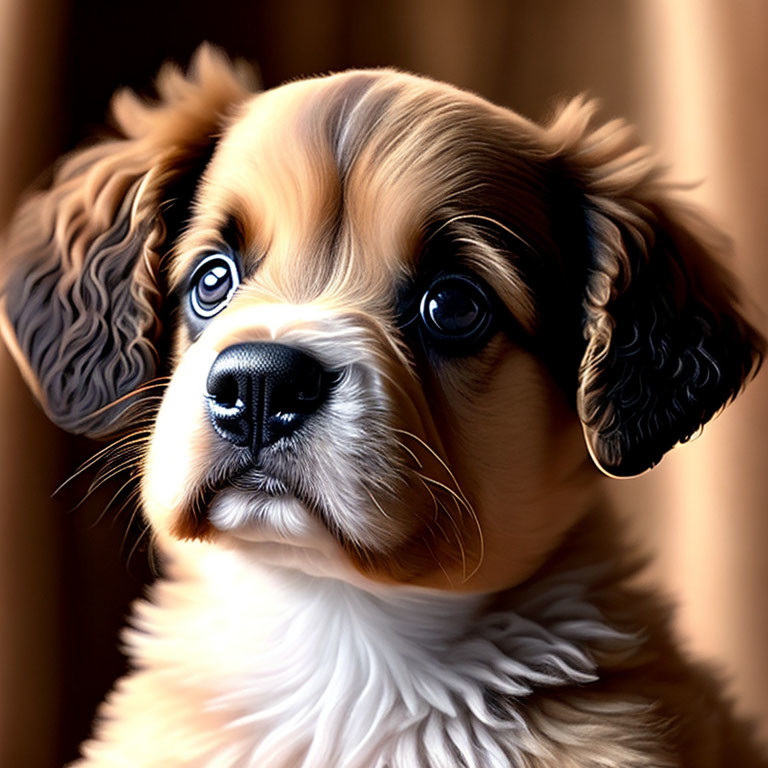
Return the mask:
<path fill-rule="evenodd" d="M 642 702 L 588 700 L 574 717 L 567 696 L 548 698 L 588 689 L 601 658 L 639 645 L 589 599 L 604 568 L 489 598 L 368 591 L 204 545 L 181 553 L 127 640 L 166 689 L 216 714 L 185 765 L 651 764 Z"/>

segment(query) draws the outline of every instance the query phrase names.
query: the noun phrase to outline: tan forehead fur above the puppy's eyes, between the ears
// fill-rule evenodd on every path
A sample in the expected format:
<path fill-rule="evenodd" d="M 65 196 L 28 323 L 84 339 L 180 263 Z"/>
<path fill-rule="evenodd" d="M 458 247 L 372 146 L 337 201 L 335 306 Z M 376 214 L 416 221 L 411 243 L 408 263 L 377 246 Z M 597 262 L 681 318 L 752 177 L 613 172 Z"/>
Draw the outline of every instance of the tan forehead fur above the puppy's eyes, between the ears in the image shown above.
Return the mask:
<path fill-rule="evenodd" d="M 260 282 L 296 302 L 352 286 L 386 295 L 380 281 L 450 222 L 475 219 L 541 247 L 539 132 L 472 94 L 389 70 L 259 94 L 205 174 L 176 277 L 233 219 L 246 262 L 264 259 Z"/>

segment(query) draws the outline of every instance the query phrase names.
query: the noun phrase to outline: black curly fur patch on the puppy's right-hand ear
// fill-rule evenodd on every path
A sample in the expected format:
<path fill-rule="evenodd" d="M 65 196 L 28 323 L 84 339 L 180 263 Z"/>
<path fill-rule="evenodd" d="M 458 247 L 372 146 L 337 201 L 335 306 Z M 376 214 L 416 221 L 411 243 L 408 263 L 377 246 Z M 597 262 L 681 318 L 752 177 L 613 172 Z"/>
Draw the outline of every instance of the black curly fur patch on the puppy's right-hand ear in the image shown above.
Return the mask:
<path fill-rule="evenodd" d="M 613 328 L 589 379 L 593 450 L 610 474 L 657 464 L 732 400 L 763 354 L 727 275 L 661 211 L 647 253 L 624 232 L 626 264 L 604 311 Z"/>

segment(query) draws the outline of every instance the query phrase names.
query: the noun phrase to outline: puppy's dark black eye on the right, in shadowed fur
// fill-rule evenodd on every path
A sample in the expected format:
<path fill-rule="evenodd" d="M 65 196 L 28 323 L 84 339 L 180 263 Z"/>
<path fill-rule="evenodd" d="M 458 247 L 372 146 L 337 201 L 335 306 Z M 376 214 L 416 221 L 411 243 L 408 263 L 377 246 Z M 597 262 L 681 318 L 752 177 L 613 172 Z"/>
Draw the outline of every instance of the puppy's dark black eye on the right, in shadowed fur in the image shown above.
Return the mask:
<path fill-rule="evenodd" d="M 440 275 L 422 296 L 419 312 L 427 340 L 443 354 L 464 355 L 488 339 L 493 294 L 469 275 Z"/>

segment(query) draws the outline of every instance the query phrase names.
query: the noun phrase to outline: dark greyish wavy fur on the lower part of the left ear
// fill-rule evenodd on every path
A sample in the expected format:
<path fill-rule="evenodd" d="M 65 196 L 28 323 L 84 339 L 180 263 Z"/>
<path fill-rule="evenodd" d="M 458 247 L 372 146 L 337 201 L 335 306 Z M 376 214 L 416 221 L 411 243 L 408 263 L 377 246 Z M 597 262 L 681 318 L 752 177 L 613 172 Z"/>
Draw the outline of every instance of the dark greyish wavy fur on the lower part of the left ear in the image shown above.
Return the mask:
<path fill-rule="evenodd" d="M 156 318 L 133 289 L 151 228 L 130 223 L 139 183 L 88 247 L 83 268 L 67 264 L 52 232 L 29 236 L 40 226 L 39 199 L 17 221 L 24 246 L 14 248 L 11 238 L 15 264 L 4 286 L 6 312 L 49 416 L 71 432 L 107 431 L 129 405 L 120 399 L 156 368 Z"/>

